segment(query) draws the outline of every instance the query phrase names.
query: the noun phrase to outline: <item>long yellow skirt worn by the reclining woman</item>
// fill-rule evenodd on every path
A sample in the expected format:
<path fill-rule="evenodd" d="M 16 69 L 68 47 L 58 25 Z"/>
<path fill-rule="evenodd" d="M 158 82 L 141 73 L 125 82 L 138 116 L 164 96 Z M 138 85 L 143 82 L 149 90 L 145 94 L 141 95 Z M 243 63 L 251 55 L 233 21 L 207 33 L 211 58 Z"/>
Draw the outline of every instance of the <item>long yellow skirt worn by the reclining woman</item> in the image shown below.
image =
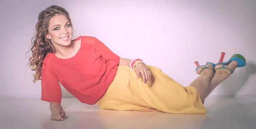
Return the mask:
<path fill-rule="evenodd" d="M 128 66 L 118 66 L 116 77 L 97 102 L 101 109 L 160 111 L 178 114 L 205 114 L 197 89 L 183 87 L 154 66 L 148 66 L 151 80 L 137 79 Z"/>

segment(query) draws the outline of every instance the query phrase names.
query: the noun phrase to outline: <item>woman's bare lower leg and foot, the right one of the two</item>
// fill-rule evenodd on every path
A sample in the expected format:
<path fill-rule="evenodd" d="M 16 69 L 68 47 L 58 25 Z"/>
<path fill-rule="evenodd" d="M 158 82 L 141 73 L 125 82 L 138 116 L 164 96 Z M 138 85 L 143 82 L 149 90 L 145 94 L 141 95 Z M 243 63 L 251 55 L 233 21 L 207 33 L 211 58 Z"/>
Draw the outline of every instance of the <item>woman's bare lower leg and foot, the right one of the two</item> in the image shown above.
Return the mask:
<path fill-rule="evenodd" d="M 229 68 L 231 70 L 234 70 L 236 68 L 236 66 L 238 65 L 238 63 L 236 61 L 231 61 L 227 66 L 225 66 L 226 68 Z M 222 64 L 216 65 L 215 69 L 223 67 Z M 215 74 L 213 75 L 213 77 L 210 79 L 209 81 L 209 87 L 208 87 L 208 91 L 207 91 L 207 95 L 206 97 L 223 81 L 225 80 L 227 77 L 229 77 L 231 75 L 231 72 L 227 69 L 218 69 L 215 71 Z"/>

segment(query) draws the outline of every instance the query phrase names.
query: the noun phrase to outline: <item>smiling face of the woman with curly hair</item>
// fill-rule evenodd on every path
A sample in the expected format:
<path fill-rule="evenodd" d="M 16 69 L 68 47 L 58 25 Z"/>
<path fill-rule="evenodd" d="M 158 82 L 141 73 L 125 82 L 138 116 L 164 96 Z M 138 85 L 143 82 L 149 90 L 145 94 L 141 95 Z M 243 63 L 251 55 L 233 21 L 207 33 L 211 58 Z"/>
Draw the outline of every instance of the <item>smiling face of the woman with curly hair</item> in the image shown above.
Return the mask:
<path fill-rule="evenodd" d="M 65 15 L 55 15 L 49 20 L 48 34 L 46 35 L 54 46 L 69 46 L 72 38 L 71 23 Z"/>

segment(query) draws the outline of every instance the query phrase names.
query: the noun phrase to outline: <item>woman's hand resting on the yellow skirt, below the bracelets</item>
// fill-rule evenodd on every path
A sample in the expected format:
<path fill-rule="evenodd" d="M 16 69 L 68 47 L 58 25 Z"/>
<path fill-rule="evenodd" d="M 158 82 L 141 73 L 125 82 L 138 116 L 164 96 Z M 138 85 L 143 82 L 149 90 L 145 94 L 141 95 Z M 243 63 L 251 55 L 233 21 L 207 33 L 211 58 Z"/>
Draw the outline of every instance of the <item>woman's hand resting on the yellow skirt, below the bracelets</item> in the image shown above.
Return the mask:
<path fill-rule="evenodd" d="M 148 82 L 148 80 L 151 79 L 151 72 L 149 71 L 149 69 L 145 64 L 143 63 L 138 64 L 134 70 L 137 74 L 137 79 L 140 78 L 140 74 L 142 75 L 142 79 L 144 83 Z"/>

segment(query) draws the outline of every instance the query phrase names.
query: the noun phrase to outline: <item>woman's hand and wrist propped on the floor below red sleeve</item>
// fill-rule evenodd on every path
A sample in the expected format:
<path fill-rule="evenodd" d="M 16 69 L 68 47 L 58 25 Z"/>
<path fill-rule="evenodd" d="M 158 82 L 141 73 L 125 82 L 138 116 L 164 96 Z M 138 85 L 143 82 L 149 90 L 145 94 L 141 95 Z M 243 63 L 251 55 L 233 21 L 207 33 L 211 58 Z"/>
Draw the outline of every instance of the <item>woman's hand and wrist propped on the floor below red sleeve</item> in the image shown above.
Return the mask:
<path fill-rule="evenodd" d="M 66 112 L 63 111 L 63 108 L 60 103 L 51 102 L 50 109 L 52 112 L 52 120 L 64 120 L 63 117 L 66 115 Z"/>

